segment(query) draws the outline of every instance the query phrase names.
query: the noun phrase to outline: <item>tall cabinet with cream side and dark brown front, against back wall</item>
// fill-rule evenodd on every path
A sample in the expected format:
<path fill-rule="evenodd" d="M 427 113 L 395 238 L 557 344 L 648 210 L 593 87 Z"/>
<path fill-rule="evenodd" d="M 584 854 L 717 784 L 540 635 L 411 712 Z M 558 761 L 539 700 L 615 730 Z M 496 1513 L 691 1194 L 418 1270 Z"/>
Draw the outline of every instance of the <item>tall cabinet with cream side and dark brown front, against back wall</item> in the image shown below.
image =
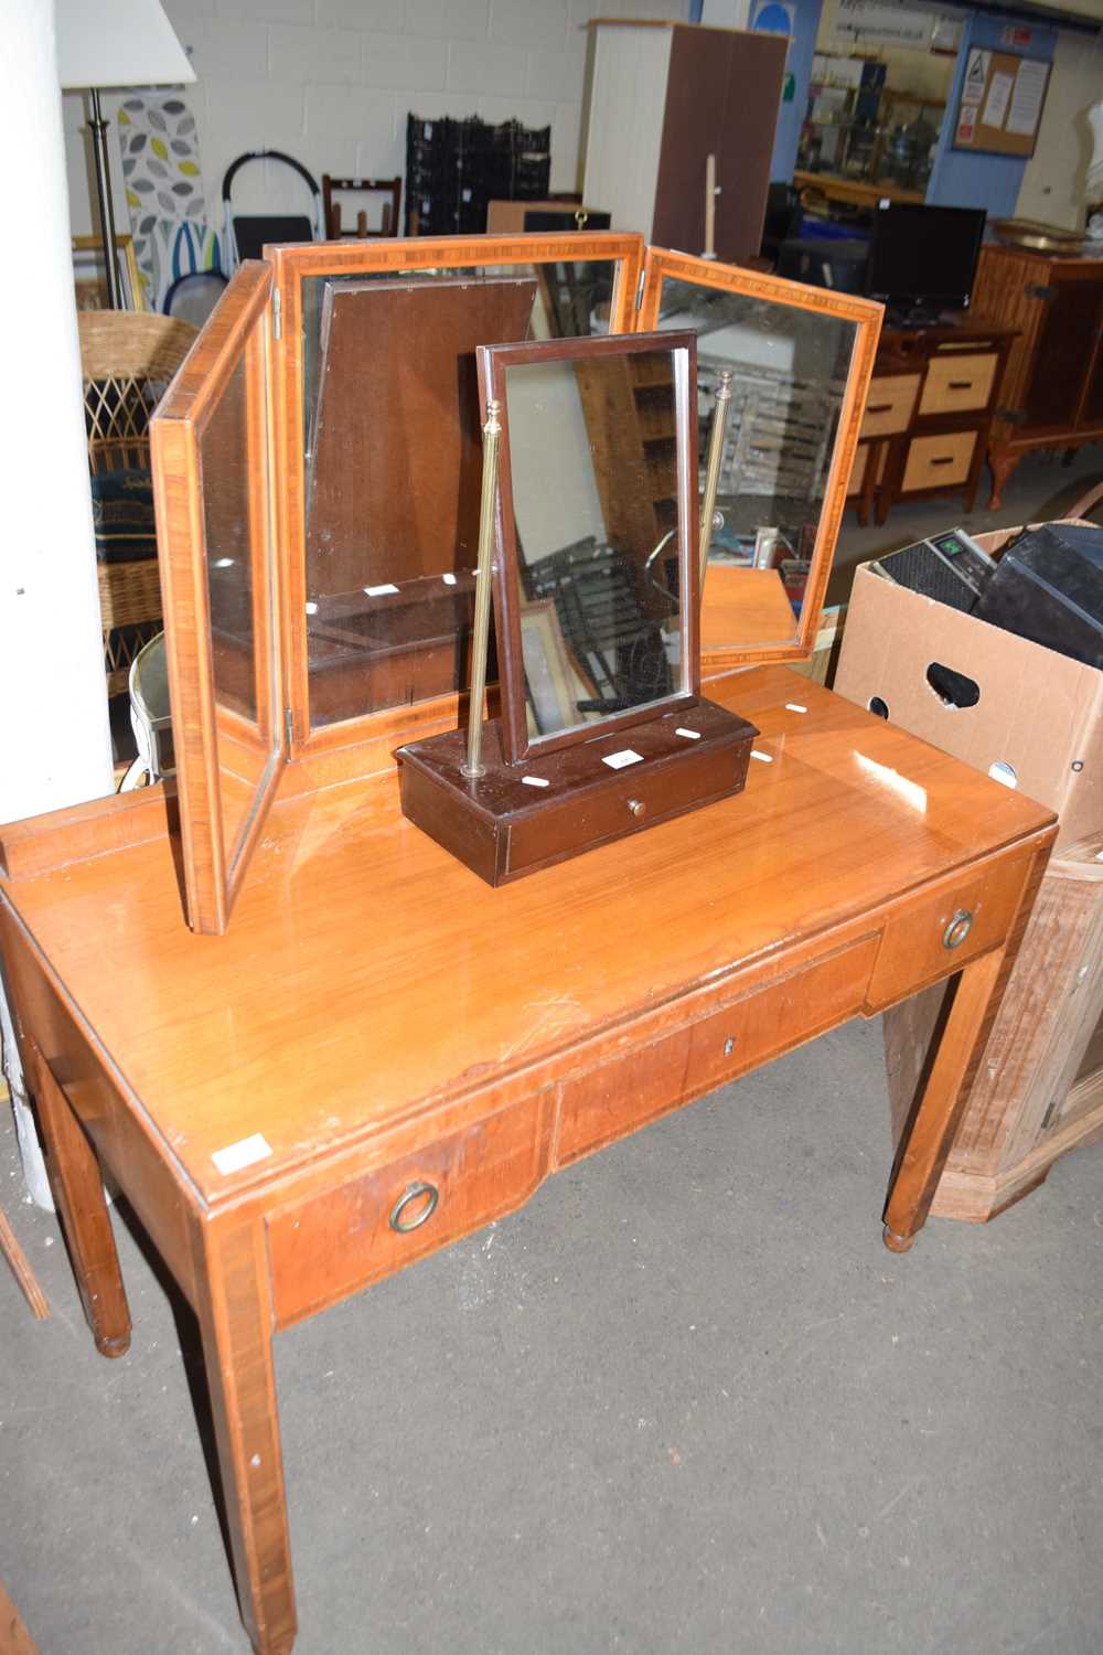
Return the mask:
<path fill-rule="evenodd" d="M 688 253 L 754 258 L 762 242 L 774 126 L 785 70 L 781 35 L 685 23 L 590 23 L 594 74 L 584 200 L 614 228 Z M 714 245 L 706 167 L 714 157 Z"/>

